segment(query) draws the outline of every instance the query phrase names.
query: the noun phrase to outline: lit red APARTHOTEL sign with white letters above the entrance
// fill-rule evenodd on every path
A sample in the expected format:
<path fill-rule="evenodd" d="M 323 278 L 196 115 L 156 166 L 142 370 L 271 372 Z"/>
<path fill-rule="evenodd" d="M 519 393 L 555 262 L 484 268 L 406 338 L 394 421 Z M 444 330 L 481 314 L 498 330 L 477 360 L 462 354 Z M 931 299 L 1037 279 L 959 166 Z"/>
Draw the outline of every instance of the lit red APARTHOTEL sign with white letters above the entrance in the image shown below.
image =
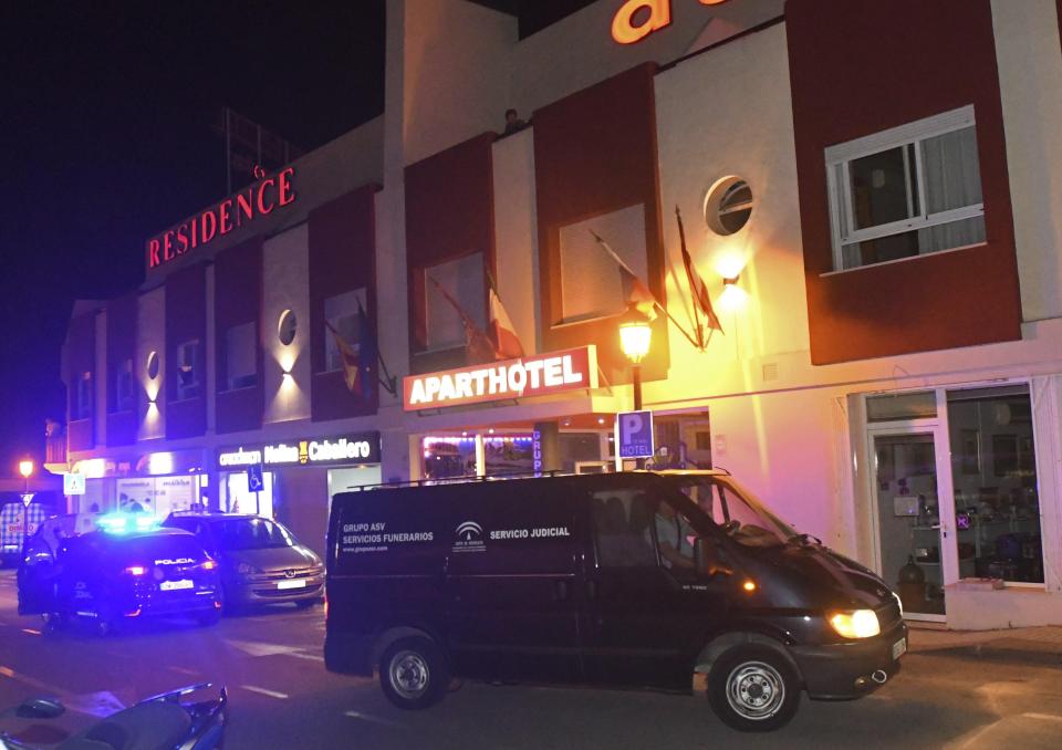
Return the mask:
<path fill-rule="evenodd" d="M 597 387 L 597 347 L 506 360 L 403 379 L 406 412 Z"/>

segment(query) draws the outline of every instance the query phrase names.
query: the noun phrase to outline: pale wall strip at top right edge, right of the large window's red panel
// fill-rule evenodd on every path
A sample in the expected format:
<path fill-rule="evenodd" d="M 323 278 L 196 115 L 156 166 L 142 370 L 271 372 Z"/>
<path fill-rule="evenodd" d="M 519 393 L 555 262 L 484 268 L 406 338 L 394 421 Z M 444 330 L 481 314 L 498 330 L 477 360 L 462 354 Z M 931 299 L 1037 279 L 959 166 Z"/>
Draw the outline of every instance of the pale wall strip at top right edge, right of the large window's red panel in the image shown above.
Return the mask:
<path fill-rule="evenodd" d="M 1062 315 L 1062 53 L 1054 0 L 992 0 L 1024 320 Z"/>

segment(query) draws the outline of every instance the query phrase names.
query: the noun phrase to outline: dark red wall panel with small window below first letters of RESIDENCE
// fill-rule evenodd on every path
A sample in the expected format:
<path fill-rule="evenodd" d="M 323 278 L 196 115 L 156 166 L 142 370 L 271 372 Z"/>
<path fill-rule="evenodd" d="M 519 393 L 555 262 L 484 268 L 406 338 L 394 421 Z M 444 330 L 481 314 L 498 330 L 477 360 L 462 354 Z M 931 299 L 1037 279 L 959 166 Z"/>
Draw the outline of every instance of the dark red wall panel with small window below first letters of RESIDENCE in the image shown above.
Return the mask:
<path fill-rule="evenodd" d="M 177 400 L 177 346 L 199 340 L 199 396 Z M 176 440 L 207 430 L 207 267 L 197 263 L 166 278 L 166 438 Z"/>

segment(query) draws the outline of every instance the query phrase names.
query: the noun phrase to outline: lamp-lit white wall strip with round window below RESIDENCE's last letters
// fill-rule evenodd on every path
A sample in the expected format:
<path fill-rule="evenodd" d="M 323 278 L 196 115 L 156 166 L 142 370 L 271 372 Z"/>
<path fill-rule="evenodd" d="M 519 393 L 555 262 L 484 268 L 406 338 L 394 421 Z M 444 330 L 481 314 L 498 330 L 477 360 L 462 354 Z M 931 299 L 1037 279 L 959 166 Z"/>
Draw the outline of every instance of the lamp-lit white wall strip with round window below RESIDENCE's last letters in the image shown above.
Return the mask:
<path fill-rule="evenodd" d="M 301 223 L 262 243 L 262 384 L 266 423 L 310 418 L 310 231 Z M 278 337 L 280 316 L 295 314 L 295 337 Z M 292 377 L 285 378 L 284 372 Z"/>

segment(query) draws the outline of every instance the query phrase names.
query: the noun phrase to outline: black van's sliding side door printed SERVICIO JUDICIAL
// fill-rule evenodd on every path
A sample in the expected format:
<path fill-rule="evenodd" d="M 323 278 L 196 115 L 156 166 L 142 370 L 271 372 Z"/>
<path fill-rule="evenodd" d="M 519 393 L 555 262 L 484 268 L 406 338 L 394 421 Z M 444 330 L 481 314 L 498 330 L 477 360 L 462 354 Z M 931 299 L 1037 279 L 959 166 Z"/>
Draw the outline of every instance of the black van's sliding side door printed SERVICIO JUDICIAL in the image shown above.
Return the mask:
<path fill-rule="evenodd" d="M 576 502 L 556 480 L 507 480 L 457 507 L 446 583 L 455 673 L 579 681 Z"/>

